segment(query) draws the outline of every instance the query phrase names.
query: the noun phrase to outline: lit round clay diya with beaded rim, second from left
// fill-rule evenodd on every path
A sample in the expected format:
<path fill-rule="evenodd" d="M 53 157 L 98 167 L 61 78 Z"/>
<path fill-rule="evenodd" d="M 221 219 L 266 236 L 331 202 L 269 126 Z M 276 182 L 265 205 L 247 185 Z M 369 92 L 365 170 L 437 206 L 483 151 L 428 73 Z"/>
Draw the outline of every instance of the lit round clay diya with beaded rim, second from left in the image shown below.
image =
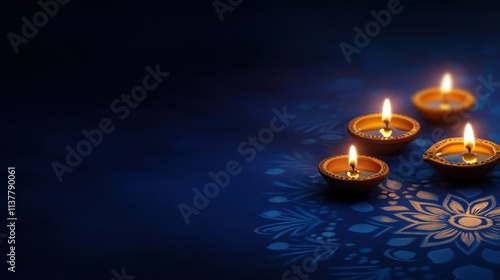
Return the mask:
<path fill-rule="evenodd" d="M 415 139 L 420 124 L 413 118 L 392 114 L 391 103 L 386 99 L 382 114 L 370 114 L 351 120 L 347 131 L 363 151 L 391 153 Z"/>

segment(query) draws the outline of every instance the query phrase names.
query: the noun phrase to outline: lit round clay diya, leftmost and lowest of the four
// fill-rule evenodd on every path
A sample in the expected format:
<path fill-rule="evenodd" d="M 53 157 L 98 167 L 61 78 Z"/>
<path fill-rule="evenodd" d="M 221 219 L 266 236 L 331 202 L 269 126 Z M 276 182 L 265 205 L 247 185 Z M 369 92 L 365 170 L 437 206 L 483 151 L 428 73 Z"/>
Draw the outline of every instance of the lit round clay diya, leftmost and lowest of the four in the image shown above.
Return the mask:
<path fill-rule="evenodd" d="M 389 174 L 387 164 L 379 159 L 358 156 L 351 146 L 349 155 L 322 160 L 318 169 L 326 182 L 336 190 L 364 192 L 382 183 Z"/>

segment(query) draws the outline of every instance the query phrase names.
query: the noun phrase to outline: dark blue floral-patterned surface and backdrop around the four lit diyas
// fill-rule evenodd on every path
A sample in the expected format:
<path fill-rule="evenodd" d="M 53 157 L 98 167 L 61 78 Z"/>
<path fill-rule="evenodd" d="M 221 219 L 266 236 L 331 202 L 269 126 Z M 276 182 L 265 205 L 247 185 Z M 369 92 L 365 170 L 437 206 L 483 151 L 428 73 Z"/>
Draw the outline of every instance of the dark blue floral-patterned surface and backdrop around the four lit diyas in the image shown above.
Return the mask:
<path fill-rule="evenodd" d="M 497 8 L 402 2 L 347 63 L 339 43 L 387 2 L 243 2 L 220 22 L 210 2 L 75 0 L 19 54 L 5 42 L 0 162 L 16 166 L 19 218 L 7 279 L 500 277 L 500 171 L 464 185 L 421 162 L 437 126 L 410 103 L 445 71 L 472 92 L 479 76 L 500 81 Z M 8 4 L 18 31 L 36 6 Z M 110 104 L 157 64 L 171 75 L 120 120 Z M 497 90 L 468 121 L 500 142 Z M 421 133 L 379 156 L 391 173 L 370 193 L 332 195 L 318 162 L 345 154 L 348 121 L 379 112 L 385 97 Z M 238 151 L 285 106 L 296 117 L 255 158 Z M 59 182 L 51 164 L 103 118 L 115 130 Z M 459 137 L 464 124 L 441 128 Z M 241 172 L 186 225 L 179 205 L 193 206 L 193 188 L 230 161 Z"/>

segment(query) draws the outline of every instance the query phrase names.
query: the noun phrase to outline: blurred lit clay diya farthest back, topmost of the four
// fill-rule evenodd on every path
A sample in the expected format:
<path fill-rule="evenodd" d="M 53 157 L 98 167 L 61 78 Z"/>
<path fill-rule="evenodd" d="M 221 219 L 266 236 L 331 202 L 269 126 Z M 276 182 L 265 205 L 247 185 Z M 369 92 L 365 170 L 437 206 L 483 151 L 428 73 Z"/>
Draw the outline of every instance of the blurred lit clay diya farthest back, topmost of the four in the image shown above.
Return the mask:
<path fill-rule="evenodd" d="M 446 73 L 441 88 L 424 89 L 412 98 L 413 105 L 432 122 L 453 122 L 456 116 L 463 116 L 476 104 L 470 92 L 453 88 L 451 75 Z"/>

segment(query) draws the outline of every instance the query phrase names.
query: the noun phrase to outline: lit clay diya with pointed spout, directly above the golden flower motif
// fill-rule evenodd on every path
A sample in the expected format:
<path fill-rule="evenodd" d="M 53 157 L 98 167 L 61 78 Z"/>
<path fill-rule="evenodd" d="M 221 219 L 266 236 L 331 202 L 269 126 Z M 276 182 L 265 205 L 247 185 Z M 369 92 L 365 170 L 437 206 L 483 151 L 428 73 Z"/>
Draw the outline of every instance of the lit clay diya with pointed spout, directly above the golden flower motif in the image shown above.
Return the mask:
<path fill-rule="evenodd" d="M 474 178 L 486 174 L 500 162 L 500 146 L 475 139 L 467 124 L 463 138 L 449 138 L 432 145 L 423 160 L 434 169 L 453 178 Z"/>

